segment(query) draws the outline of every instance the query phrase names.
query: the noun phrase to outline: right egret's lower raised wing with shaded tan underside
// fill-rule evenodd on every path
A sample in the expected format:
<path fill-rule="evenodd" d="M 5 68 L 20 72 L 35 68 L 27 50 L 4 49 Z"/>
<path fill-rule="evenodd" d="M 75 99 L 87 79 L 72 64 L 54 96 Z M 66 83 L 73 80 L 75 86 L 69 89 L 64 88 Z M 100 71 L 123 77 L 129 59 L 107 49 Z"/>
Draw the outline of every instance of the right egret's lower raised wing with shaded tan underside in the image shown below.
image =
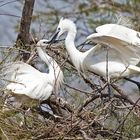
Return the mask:
<path fill-rule="evenodd" d="M 125 61 L 127 61 L 129 64 L 136 65 L 140 61 L 140 47 L 133 46 L 132 44 L 129 44 L 128 42 L 125 42 L 116 36 L 94 33 L 88 36 L 87 39 L 114 48 L 116 53 L 119 52 L 122 58 L 125 59 Z"/>

